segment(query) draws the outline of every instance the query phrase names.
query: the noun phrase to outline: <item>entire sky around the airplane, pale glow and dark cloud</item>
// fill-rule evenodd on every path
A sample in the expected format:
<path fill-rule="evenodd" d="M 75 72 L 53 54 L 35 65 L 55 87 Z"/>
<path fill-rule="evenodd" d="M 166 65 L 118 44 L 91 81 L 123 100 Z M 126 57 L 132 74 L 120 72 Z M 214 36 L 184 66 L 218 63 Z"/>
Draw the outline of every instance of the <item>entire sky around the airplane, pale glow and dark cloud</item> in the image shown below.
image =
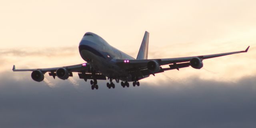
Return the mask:
<path fill-rule="evenodd" d="M 0 1 L 0 126 L 255 127 L 255 13 L 255 0 Z M 250 49 L 114 90 L 100 81 L 92 91 L 77 74 L 38 83 L 11 70 L 83 63 L 85 32 L 135 58 L 145 31 L 148 58 Z"/>

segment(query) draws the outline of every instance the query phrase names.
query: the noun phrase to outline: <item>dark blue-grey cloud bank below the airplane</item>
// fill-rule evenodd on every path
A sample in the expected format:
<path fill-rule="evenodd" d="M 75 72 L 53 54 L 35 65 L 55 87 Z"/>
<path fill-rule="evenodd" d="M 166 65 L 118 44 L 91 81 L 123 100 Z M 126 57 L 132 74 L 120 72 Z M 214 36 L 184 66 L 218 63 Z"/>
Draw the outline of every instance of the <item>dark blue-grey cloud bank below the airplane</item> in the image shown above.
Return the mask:
<path fill-rule="evenodd" d="M 7 75 L 10 75 L 7 73 Z M 29 76 L 27 76 L 29 77 Z M 0 126 L 3 128 L 254 128 L 256 77 L 238 82 L 190 78 L 162 86 L 90 90 L 83 80 L 74 88 L 44 82 L 0 78 Z"/>

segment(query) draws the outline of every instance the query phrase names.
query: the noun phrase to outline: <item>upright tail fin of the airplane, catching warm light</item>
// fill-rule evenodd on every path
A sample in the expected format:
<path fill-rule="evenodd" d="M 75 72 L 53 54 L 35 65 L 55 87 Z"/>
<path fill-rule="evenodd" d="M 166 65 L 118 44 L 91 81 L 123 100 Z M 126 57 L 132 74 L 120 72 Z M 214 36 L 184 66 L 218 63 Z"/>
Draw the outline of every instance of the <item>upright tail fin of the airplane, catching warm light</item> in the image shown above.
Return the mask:
<path fill-rule="evenodd" d="M 148 38 L 149 33 L 146 31 L 140 45 L 140 50 L 136 59 L 148 59 Z"/>

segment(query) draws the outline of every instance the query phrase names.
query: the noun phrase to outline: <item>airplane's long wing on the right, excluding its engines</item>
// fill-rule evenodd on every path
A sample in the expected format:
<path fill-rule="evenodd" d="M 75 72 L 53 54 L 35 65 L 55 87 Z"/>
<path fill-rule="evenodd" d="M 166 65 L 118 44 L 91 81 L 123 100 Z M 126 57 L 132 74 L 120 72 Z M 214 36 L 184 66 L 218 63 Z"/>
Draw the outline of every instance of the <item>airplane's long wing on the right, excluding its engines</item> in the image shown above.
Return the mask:
<path fill-rule="evenodd" d="M 179 70 L 179 68 L 185 68 L 190 66 L 190 60 L 192 60 L 192 58 L 199 58 L 200 60 L 204 60 L 204 59 L 209 59 L 209 58 L 215 58 L 215 57 L 220 57 L 220 56 L 226 56 L 226 55 L 230 55 L 230 54 L 237 54 L 237 53 L 242 53 L 242 52 L 247 52 L 250 46 L 248 46 L 246 48 L 246 50 L 244 51 L 236 51 L 236 52 L 227 52 L 227 53 L 220 53 L 220 54 L 210 54 L 210 55 L 203 55 L 203 56 L 189 56 L 189 57 L 180 57 L 180 58 L 163 58 L 163 59 L 140 59 L 140 60 L 129 60 L 127 62 L 127 60 L 116 60 L 116 63 L 130 71 L 130 72 L 134 72 L 134 71 L 138 71 L 140 70 L 140 72 L 143 75 L 149 75 L 149 74 L 155 74 L 155 73 L 160 73 L 160 72 L 164 72 L 165 70 L 172 70 L 172 69 L 177 69 Z M 147 69 L 147 64 L 150 61 L 155 61 L 157 62 L 160 66 L 162 65 L 167 65 L 169 64 L 170 68 L 162 68 L 160 67 L 160 70 L 158 72 L 150 72 Z"/>

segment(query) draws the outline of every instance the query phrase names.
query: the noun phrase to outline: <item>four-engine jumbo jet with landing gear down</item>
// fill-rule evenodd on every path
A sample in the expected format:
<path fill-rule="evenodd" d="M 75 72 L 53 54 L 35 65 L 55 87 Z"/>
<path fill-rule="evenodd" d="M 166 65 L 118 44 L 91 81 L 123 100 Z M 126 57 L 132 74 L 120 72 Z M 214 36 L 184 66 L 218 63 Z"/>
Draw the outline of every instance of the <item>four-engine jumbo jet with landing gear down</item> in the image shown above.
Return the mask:
<path fill-rule="evenodd" d="M 160 59 L 148 59 L 148 40 L 149 32 L 145 32 L 137 58 L 133 58 L 128 54 L 114 48 L 108 44 L 103 38 L 92 32 L 86 32 L 80 41 L 79 52 L 80 56 L 86 63 L 76 64 L 72 66 L 63 66 L 56 68 L 36 68 L 36 69 L 16 69 L 13 65 L 12 70 L 16 71 L 32 71 L 31 77 L 37 82 L 44 80 L 44 74 L 49 73 L 54 79 L 57 76 L 62 80 L 66 80 L 73 76 L 72 72 L 78 72 L 80 79 L 84 79 L 86 82 L 90 80 L 91 88 L 98 90 L 97 80 L 110 80 L 106 86 L 115 88 L 115 84 L 121 80 L 121 86 L 129 87 L 129 82 L 132 82 L 133 86 L 140 86 L 139 80 L 155 76 L 157 73 L 161 73 L 167 70 L 179 70 L 180 68 L 186 68 L 191 66 L 195 69 L 203 67 L 203 60 L 209 58 L 215 58 L 220 56 L 226 56 L 230 54 L 237 54 L 247 52 L 249 47 L 244 51 L 227 52 L 220 54 L 210 54 L 203 56 L 190 56 L 180 58 L 160 58 Z M 162 68 L 161 66 L 168 65 L 168 68 Z"/>

